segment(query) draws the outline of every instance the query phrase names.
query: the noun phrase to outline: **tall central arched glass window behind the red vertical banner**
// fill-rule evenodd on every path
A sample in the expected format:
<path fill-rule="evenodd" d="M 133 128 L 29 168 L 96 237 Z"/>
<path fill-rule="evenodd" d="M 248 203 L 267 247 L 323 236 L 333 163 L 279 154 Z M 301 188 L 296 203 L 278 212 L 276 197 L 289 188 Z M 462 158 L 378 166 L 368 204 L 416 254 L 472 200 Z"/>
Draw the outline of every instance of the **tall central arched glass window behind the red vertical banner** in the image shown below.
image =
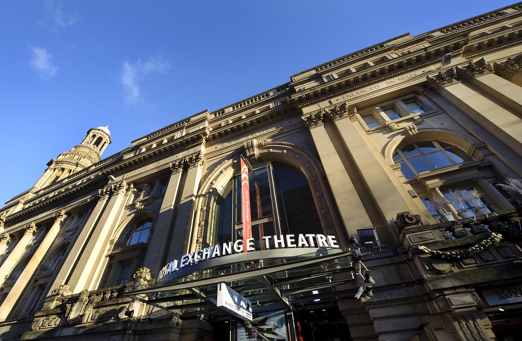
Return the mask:
<path fill-rule="evenodd" d="M 299 233 L 323 233 L 310 185 L 296 168 L 269 163 L 249 172 L 252 237 Z M 242 238 L 241 179 L 224 187 L 213 205 L 210 244 Z M 256 244 L 256 250 L 267 245 Z"/>

